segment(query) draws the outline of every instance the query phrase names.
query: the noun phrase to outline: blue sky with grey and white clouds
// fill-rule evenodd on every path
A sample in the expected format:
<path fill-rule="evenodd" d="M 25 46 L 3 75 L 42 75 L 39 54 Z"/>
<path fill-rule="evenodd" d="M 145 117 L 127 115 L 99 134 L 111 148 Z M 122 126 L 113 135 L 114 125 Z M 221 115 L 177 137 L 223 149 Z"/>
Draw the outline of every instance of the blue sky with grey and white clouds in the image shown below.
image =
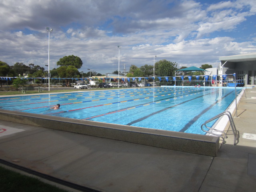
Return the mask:
<path fill-rule="evenodd" d="M 256 52 L 255 0 L 0 0 L 0 60 L 48 64 L 68 55 L 106 74 L 166 59 L 178 67 Z"/>

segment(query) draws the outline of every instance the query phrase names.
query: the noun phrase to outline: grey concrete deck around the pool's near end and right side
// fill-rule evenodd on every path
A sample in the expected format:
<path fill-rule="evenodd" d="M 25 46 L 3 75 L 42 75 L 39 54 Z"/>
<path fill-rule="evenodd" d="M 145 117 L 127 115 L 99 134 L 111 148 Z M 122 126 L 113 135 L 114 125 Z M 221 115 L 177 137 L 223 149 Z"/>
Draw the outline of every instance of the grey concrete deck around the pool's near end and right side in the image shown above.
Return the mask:
<path fill-rule="evenodd" d="M 245 94 L 234 118 L 239 142 L 234 146 L 228 131 L 216 157 L 0 120 L 1 129 L 24 130 L 0 136 L 0 165 L 10 162 L 94 189 L 84 191 L 254 192 L 256 88 Z"/>

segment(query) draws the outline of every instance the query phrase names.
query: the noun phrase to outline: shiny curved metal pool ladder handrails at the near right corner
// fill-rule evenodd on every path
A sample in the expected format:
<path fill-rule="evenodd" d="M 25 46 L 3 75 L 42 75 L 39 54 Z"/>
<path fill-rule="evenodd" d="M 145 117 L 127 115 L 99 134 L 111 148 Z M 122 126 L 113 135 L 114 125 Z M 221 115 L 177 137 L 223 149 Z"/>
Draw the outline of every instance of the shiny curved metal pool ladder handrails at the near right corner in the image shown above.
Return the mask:
<path fill-rule="evenodd" d="M 223 139 L 223 144 L 225 144 L 225 139 L 227 138 L 226 132 L 220 131 L 220 130 L 217 130 L 217 129 L 214 129 L 214 128 L 211 128 L 211 127 L 206 126 L 207 123 L 209 123 L 209 122 L 211 122 L 211 121 L 213 121 L 213 120 L 215 120 L 215 119 L 217 119 L 217 118 L 219 118 L 219 117 L 221 117 L 221 116 L 224 116 L 224 115 L 227 115 L 228 118 L 229 118 L 230 126 L 231 126 L 232 131 L 233 131 L 233 134 L 234 134 L 234 145 L 236 145 L 236 141 L 238 141 L 238 132 L 237 132 L 237 130 L 236 130 L 236 126 L 235 126 L 235 124 L 234 124 L 232 115 L 231 115 L 231 113 L 230 113 L 229 111 L 224 111 L 224 112 L 222 112 L 222 113 L 220 113 L 220 114 L 214 116 L 213 118 L 210 118 L 209 120 L 207 120 L 206 122 L 204 122 L 204 123 L 201 125 L 201 129 L 202 129 L 202 131 L 204 131 L 204 132 L 207 132 L 207 133 L 209 133 L 209 134 L 212 134 L 212 135 L 221 137 L 221 138 Z M 208 129 L 210 129 L 210 130 L 212 130 L 212 131 L 210 132 L 210 131 L 204 130 L 204 129 L 203 129 L 203 126 L 205 126 L 206 128 L 208 128 Z M 221 132 L 221 133 L 224 134 L 224 136 L 222 136 L 222 134 L 220 135 L 220 134 L 216 134 L 216 133 L 214 133 L 214 132 Z"/>

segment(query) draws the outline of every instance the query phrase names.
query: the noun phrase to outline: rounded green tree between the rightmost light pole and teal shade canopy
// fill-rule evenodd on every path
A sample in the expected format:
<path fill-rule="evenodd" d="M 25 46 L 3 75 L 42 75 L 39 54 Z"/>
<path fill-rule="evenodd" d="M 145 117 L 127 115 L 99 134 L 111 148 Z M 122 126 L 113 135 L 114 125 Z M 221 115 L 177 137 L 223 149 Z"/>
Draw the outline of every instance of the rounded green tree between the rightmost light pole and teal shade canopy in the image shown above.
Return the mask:
<path fill-rule="evenodd" d="M 155 76 L 175 76 L 175 71 L 177 69 L 176 62 L 170 62 L 166 59 L 160 60 L 155 63 Z"/>

